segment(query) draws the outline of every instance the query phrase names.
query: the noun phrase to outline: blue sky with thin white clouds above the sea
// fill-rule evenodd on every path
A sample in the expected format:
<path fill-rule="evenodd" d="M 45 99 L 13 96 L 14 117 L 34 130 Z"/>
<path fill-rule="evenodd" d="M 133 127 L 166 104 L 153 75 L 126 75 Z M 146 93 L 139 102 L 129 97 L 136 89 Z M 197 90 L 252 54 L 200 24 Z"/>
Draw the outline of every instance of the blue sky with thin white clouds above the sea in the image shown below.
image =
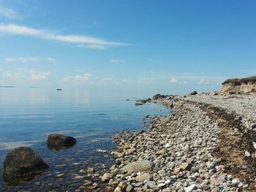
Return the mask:
<path fill-rule="evenodd" d="M 256 1 L 0 0 L 0 85 L 187 93 L 256 74 Z"/>

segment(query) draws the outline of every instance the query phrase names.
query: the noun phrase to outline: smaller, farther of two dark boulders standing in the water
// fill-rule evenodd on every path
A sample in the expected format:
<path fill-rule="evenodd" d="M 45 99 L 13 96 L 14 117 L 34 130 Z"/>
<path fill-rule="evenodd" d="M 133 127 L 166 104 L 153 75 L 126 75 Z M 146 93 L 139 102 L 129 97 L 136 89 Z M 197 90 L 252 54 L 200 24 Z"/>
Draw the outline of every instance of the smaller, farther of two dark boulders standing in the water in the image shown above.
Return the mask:
<path fill-rule="evenodd" d="M 47 146 L 53 150 L 65 149 L 75 145 L 75 138 L 64 136 L 62 134 L 49 134 Z"/>

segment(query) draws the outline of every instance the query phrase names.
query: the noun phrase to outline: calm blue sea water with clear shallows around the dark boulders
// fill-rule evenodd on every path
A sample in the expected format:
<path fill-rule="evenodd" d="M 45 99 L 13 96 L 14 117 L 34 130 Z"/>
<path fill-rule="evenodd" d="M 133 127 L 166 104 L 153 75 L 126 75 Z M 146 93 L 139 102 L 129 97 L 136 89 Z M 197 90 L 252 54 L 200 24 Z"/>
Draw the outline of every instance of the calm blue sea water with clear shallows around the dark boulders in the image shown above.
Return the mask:
<path fill-rule="evenodd" d="M 69 183 L 61 183 L 71 180 L 79 169 L 95 163 L 107 166 L 113 163 L 110 155 L 95 150 L 114 147 L 110 137 L 118 131 L 142 129 L 146 115 L 169 112 L 158 104 L 135 106 L 135 99 L 143 99 L 143 94 L 0 88 L 0 175 L 5 155 L 14 147 L 31 147 L 50 165 L 48 172 L 18 187 L 7 186 L 0 177 L 0 191 L 18 191 L 20 188 L 42 191 L 39 188 L 42 183 L 45 190 L 67 189 Z M 77 144 L 68 150 L 48 150 L 46 140 L 50 133 L 75 137 Z M 56 174 L 63 172 L 67 177 L 57 180 Z"/>

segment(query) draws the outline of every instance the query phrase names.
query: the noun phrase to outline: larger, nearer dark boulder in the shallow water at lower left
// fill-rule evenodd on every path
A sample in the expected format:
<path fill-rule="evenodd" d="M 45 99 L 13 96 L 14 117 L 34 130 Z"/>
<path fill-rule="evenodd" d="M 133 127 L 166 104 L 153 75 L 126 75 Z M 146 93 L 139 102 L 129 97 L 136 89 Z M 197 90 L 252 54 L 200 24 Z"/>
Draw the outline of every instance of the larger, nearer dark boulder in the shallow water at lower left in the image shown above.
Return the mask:
<path fill-rule="evenodd" d="M 7 153 L 4 160 L 4 180 L 13 183 L 29 180 L 48 169 L 42 158 L 29 147 L 18 147 Z"/>

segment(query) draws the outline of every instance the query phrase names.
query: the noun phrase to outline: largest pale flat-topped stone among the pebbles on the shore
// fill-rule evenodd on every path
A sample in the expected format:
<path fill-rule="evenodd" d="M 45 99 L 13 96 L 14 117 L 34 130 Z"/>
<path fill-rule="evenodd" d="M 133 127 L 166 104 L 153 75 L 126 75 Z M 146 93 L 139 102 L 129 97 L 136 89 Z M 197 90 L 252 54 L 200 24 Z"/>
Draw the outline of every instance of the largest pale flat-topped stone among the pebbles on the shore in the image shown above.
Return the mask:
<path fill-rule="evenodd" d="M 121 172 L 148 172 L 153 169 L 154 164 L 148 160 L 135 161 L 121 168 Z"/>

